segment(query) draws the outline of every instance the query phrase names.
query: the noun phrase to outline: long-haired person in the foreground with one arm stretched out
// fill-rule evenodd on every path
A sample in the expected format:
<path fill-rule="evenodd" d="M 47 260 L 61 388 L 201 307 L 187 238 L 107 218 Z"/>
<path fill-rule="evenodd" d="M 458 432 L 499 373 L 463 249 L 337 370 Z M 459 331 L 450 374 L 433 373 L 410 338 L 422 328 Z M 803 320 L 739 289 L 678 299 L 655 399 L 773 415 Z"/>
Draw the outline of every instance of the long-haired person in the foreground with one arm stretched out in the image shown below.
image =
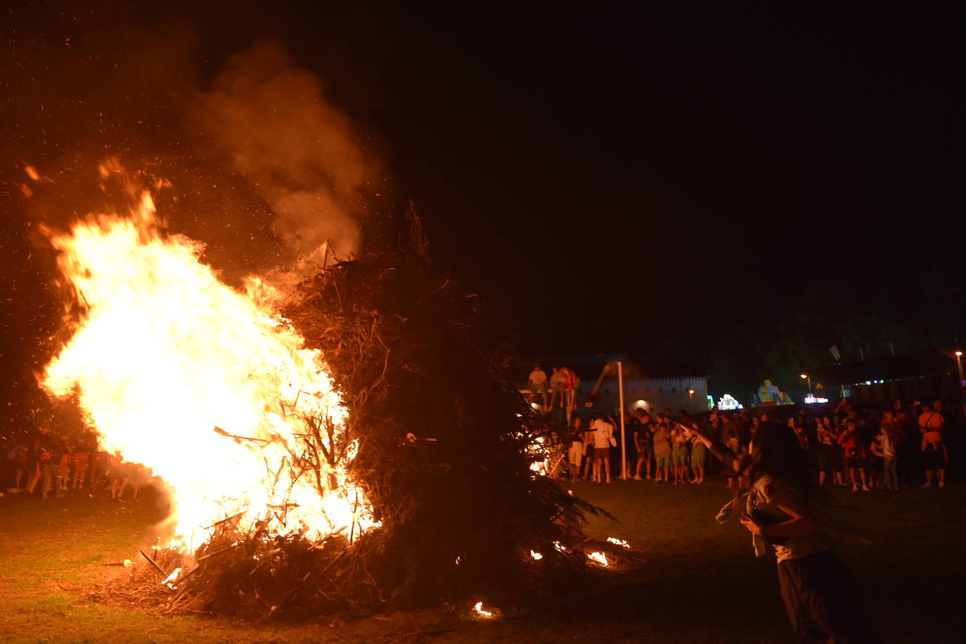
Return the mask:
<path fill-rule="evenodd" d="M 852 576 L 832 551 L 814 510 L 826 492 L 814 483 L 795 432 L 763 422 L 752 435 L 749 454 L 739 457 L 696 425 L 688 429 L 737 478 L 732 503 L 738 508 L 746 498 L 741 523 L 752 533 L 755 551 L 774 548 L 781 600 L 799 641 L 873 641 Z"/>

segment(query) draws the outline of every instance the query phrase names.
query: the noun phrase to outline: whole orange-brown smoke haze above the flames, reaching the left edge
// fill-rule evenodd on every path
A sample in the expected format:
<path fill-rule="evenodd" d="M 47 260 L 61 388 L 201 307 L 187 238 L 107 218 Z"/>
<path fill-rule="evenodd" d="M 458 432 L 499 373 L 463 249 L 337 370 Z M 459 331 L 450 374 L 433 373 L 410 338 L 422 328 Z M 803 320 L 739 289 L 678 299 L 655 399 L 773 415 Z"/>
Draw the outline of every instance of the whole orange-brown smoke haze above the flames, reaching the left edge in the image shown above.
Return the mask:
<path fill-rule="evenodd" d="M 25 402 L 40 398 L 32 372 L 56 349 L 64 312 L 38 224 L 67 230 L 88 213 L 127 210 L 128 195 L 101 189 L 105 159 L 144 186 L 166 180 L 156 203 L 169 232 L 205 244 L 203 260 L 229 284 L 312 269 L 299 256 L 327 239 L 340 258 L 359 249 L 371 198 L 386 194 L 380 163 L 280 42 L 239 38 L 213 52 L 184 18 L 98 3 L 5 14 L 0 400 L 22 404 L 10 422 L 39 405 Z M 42 182 L 28 180 L 28 165 Z"/>

